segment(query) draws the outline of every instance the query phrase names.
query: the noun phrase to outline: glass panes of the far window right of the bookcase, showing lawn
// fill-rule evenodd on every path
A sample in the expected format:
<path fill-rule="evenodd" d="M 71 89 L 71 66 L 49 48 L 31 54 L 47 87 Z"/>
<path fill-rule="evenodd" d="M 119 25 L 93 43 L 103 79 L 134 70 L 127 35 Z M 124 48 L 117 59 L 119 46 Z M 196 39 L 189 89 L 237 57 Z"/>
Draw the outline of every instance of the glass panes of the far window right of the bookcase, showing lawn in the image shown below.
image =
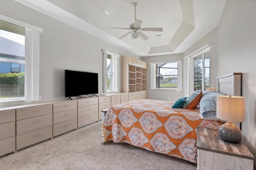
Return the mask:
<path fill-rule="evenodd" d="M 177 63 L 156 64 L 156 88 L 177 88 Z"/>

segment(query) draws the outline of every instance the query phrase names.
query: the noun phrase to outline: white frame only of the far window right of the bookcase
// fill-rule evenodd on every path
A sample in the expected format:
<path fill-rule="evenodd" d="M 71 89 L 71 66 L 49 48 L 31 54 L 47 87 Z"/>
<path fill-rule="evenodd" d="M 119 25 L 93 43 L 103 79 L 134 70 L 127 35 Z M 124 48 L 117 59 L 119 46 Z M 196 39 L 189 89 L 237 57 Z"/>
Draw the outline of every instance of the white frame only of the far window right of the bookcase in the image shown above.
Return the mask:
<path fill-rule="evenodd" d="M 161 63 L 177 63 L 177 88 L 156 88 L 156 65 Z M 150 90 L 155 89 L 182 91 L 182 61 L 165 61 L 150 63 Z"/>

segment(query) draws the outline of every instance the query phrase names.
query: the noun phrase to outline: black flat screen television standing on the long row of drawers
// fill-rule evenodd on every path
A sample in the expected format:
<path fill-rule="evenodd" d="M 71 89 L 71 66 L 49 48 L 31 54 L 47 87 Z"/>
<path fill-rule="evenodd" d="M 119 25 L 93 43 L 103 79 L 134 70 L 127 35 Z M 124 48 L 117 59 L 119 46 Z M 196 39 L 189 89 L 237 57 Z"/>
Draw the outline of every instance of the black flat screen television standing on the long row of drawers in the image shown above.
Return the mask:
<path fill-rule="evenodd" d="M 98 73 L 65 70 L 65 97 L 98 94 Z"/>

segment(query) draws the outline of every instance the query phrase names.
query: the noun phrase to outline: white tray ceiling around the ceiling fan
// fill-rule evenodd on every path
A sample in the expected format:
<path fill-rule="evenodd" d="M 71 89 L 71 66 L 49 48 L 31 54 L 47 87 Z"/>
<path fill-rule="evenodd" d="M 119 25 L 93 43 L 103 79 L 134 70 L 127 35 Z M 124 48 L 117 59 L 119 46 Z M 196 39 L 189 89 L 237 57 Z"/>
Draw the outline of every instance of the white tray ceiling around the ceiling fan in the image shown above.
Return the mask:
<path fill-rule="evenodd" d="M 216 28 L 226 0 L 15 0 L 88 34 L 113 43 L 139 56 L 183 53 Z M 163 28 L 162 32 L 143 31 L 148 40 L 130 35 L 136 19 L 141 28 Z M 161 36 L 159 36 L 161 35 Z"/>

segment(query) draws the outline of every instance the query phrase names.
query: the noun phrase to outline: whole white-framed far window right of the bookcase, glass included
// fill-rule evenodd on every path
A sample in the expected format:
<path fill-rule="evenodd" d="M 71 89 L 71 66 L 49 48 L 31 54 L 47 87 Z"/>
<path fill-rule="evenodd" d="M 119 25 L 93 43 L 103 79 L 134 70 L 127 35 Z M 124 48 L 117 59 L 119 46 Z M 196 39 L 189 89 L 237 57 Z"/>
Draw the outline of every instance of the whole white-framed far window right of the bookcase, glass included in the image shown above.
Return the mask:
<path fill-rule="evenodd" d="M 150 63 L 150 89 L 182 89 L 182 61 Z"/>

